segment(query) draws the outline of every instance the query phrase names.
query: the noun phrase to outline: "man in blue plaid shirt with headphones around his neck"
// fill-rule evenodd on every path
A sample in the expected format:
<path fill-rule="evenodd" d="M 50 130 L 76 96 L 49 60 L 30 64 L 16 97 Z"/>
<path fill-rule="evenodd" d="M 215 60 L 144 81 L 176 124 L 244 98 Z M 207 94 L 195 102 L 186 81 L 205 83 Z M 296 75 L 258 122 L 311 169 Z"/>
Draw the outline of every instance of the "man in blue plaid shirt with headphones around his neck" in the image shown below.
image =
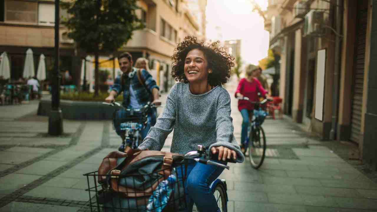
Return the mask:
<path fill-rule="evenodd" d="M 145 69 L 141 69 L 141 80 L 144 84 L 141 84 L 138 76 L 136 74 L 137 69 L 132 67 L 132 56 L 128 52 L 124 52 L 118 56 L 119 67 L 123 72 L 121 77 L 116 77 L 112 91 L 109 97 L 106 98 L 107 102 L 112 102 L 115 97 L 123 92 L 123 106 L 125 108 L 138 109 L 143 107 L 147 102 L 151 101 L 150 94 L 153 95 L 153 104 L 159 105 L 161 101 L 159 100 L 159 87 L 156 81 L 153 80 L 152 75 L 149 74 Z M 147 90 L 148 89 L 148 90 Z M 144 140 L 151 126 L 156 123 L 156 108 L 152 108 L 148 114 L 148 124 L 145 129 L 141 131 L 141 139 Z M 124 131 L 120 130 L 120 123 L 116 120 L 120 120 L 124 116 L 124 110 L 118 110 L 116 112 L 116 117 L 114 118 L 114 127 L 118 135 L 124 140 Z"/>

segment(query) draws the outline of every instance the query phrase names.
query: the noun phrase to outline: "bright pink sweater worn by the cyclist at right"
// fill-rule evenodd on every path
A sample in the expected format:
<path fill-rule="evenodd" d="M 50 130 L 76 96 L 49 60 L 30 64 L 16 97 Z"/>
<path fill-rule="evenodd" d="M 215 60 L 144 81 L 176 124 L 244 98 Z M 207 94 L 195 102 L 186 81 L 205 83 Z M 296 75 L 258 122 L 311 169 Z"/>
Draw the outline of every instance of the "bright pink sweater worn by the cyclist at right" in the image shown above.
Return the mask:
<path fill-rule="evenodd" d="M 250 101 L 259 101 L 257 93 L 260 92 L 261 96 L 264 97 L 267 91 L 262 87 L 261 82 L 257 78 L 253 78 L 253 81 L 249 82 L 246 78 L 242 78 L 237 86 L 236 95 L 240 93 L 244 95 L 244 97 L 250 98 Z M 253 110 L 254 104 L 251 104 L 249 101 L 246 100 L 238 100 L 238 110 L 241 111 L 242 109 Z"/>

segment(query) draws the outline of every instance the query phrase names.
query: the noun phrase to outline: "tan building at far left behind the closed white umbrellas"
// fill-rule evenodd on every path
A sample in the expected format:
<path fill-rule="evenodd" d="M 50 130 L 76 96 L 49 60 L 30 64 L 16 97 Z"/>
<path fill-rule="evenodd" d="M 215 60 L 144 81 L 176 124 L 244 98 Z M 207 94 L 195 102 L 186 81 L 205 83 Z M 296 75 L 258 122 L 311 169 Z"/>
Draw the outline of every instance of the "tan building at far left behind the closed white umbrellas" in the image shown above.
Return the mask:
<path fill-rule="evenodd" d="M 62 17 L 67 15 L 60 10 Z M 41 54 L 46 61 L 47 77 L 54 67 L 54 1 L 0 1 L 0 52 L 8 52 L 11 78 L 22 77 L 26 51 L 31 48 L 34 64 L 38 65 Z M 74 69 L 74 42 L 63 35 L 66 28 L 60 28 L 61 69 Z M 37 67 L 35 67 L 37 70 Z"/>

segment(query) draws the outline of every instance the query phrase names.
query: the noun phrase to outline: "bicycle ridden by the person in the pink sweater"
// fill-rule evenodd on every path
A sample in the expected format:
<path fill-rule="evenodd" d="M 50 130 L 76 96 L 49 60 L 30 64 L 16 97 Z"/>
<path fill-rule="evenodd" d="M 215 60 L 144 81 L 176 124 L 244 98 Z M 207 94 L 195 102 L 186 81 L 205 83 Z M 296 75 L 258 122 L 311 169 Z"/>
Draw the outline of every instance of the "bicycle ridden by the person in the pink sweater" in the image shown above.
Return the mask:
<path fill-rule="evenodd" d="M 250 158 L 250 164 L 254 169 L 258 169 L 262 166 L 266 153 L 266 135 L 262 128 L 262 124 L 268 112 L 262 109 L 262 105 L 271 101 L 270 99 L 264 99 L 263 101 L 250 101 L 248 97 L 237 98 L 241 100 L 247 100 L 251 104 L 254 104 L 253 114 L 250 121 L 250 132 L 248 130 L 248 139 L 244 145 L 244 155 L 248 151 Z"/>

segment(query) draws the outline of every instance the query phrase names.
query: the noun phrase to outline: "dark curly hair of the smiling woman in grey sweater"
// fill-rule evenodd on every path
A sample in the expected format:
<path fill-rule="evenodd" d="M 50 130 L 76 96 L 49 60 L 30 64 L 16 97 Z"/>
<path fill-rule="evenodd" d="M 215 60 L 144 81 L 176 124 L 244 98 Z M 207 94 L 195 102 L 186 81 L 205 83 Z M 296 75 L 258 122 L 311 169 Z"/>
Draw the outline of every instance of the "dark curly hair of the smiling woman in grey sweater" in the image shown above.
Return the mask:
<path fill-rule="evenodd" d="M 212 73 L 208 74 L 208 84 L 217 86 L 229 80 L 230 70 L 234 66 L 234 57 L 227 53 L 226 48 L 220 46 L 220 41 L 198 42 L 196 37 L 186 36 L 174 49 L 172 56 L 172 77 L 176 81 L 189 83 L 184 73 L 184 66 L 187 54 L 193 49 L 203 52 L 208 61 L 207 68 L 212 70 Z"/>

